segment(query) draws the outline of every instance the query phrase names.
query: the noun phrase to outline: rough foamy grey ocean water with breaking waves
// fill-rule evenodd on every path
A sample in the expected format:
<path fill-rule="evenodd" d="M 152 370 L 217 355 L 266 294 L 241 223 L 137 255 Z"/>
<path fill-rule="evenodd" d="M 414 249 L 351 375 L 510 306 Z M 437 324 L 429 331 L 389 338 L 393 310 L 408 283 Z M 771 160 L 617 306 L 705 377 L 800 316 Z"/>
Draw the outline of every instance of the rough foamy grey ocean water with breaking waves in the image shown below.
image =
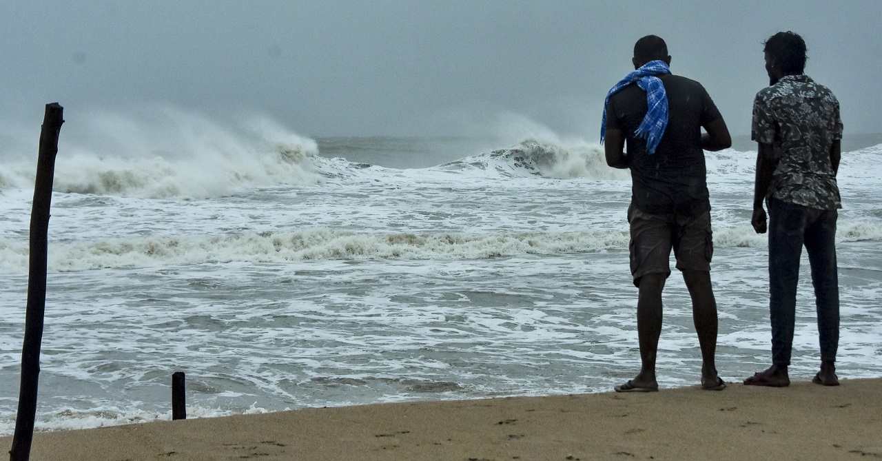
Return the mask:
<path fill-rule="evenodd" d="M 637 372 L 631 182 L 596 143 L 310 139 L 266 120 L 158 118 L 62 130 L 37 430 L 168 420 L 176 371 L 190 417 L 605 391 Z M 17 411 L 36 157 L 36 137 L 10 139 L 0 435 Z M 749 222 L 755 152 L 739 149 L 706 154 L 727 381 L 770 361 L 766 240 Z M 882 145 L 849 149 L 838 368 L 882 376 Z M 803 380 L 819 360 L 807 271 L 804 258 L 791 366 Z M 660 384 L 699 372 L 675 271 Z"/>

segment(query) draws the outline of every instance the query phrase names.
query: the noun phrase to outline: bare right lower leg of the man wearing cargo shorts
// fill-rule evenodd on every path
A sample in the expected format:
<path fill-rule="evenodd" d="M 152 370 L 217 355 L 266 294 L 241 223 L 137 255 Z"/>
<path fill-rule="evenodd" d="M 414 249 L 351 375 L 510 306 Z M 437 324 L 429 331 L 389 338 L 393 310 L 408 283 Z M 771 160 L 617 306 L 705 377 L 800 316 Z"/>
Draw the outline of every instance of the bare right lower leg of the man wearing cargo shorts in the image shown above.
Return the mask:
<path fill-rule="evenodd" d="M 707 271 L 683 271 L 683 279 L 692 298 L 692 322 L 699 334 L 701 346 L 701 385 L 706 388 L 717 386 L 714 356 L 716 354 L 717 312 L 711 274 Z"/>

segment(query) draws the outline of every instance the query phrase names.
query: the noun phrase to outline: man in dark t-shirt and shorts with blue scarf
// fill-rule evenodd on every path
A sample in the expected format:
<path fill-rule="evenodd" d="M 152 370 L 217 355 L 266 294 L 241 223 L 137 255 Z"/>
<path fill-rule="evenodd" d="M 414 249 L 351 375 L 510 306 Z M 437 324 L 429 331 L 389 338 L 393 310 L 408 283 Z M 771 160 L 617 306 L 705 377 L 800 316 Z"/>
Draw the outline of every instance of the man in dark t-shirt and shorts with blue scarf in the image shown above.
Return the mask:
<path fill-rule="evenodd" d="M 714 243 L 704 150 L 728 148 L 729 130 L 699 82 L 670 74 L 668 47 L 661 38 L 647 35 L 637 41 L 632 63 L 635 71 L 609 92 L 602 127 L 609 166 L 631 169 L 631 271 L 639 289 L 641 368 L 616 390 L 658 390 L 655 355 L 671 249 L 692 300 L 701 346 L 701 385 L 722 390 L 725 383 L 714 364 L 717 314 L 710 279 Z"/>

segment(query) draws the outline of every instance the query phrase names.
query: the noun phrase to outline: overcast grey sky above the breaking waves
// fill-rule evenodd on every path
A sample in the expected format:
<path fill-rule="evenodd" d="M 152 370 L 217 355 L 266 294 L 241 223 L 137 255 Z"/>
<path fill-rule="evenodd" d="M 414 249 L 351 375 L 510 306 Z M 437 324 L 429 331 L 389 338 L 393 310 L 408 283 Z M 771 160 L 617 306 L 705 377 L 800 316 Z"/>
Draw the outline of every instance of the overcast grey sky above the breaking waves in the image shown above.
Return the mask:
<path fill-rule="evenodd" d="M 0 3 L 0 121 L 172 106 L 269 115 L 304 136 L 481 134 L 501 114 L 599 138 L 633 43 L 668 42 L 733 134 L 768 84 L 762 41 L 803 35 L 847 133 L 882 132 L 882 1 Z"/>

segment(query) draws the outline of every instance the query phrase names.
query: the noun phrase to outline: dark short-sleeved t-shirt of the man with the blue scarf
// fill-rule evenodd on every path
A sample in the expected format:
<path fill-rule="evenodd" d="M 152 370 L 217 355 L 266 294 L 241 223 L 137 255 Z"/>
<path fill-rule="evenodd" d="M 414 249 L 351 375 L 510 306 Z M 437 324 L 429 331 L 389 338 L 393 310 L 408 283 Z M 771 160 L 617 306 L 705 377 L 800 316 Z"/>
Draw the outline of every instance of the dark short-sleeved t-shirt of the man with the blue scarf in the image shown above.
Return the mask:
<path fill-rule="evenodd" d="M 625 135 L 631 168 L 632 202 L 651 214 L 695 216 L 710 210 L 701 127 L 720 118 L 720 111 L 699 82 L 664 75 L 668 93 L 668 128 L 655 153 L 634 131 L 647 114 L 647 93 L 636 84 L 609 97 L 607 130 Z"/>

